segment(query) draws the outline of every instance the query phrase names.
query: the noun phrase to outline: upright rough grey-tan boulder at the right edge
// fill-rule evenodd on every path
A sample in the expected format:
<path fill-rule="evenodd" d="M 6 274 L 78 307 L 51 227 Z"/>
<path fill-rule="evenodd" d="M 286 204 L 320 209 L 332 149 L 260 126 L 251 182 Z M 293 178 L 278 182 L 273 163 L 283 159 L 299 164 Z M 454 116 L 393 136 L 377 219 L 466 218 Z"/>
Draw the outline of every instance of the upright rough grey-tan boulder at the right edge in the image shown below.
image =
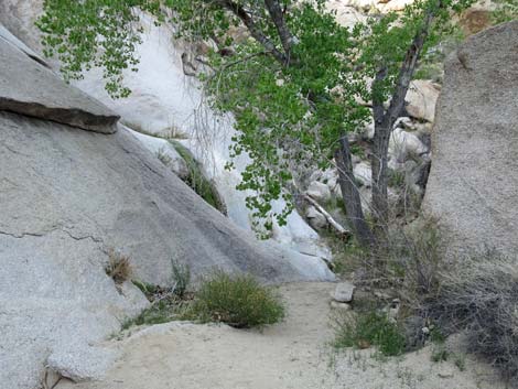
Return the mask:
<path fill-rule="evenodd" d="M 450 248 L 518 255 L 518 21 L 447 58 L 424 206 Z"/>

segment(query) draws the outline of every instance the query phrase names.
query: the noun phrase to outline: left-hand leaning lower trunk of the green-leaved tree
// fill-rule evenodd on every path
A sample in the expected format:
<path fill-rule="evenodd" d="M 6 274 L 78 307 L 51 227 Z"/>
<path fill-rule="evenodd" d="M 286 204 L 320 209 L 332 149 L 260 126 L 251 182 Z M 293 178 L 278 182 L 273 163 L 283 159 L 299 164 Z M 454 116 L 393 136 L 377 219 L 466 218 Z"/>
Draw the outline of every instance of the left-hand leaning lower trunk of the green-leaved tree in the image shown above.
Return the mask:
<path fill-rule="evenodd" d="M 338 169 L 338 183 L 342 190 L 342 198 L 344 199 L 347 212 L 347 220 L 359 245 L 363 247 L 373 247 L 375 239 L 361 209 L 361 201 L 353 173 L 353 161 L 347 136 L 343 136 L 339 140 L 339 149 L 335 151 L 335 161 L 336 168 Z"/>

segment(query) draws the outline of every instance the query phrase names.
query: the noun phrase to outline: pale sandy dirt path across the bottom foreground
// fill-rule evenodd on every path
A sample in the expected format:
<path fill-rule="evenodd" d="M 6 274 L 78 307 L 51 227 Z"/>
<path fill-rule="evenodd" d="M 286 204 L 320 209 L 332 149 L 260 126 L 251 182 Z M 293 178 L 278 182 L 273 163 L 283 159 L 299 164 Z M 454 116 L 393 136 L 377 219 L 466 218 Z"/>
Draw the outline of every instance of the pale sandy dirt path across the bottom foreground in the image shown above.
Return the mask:
<path fill-rule="evenodd" d="M 373 350 L 336 355 L 328 342 L 330 283 L 281 288 L 284 323 L 257 331 L 224 325 L 169 323 L 122 342 L 122 356 L 102 381 L 58 389 L 475 389 L 498 388 L 467 360 L 434 364 L 430 350 L 380 361 Z"/>

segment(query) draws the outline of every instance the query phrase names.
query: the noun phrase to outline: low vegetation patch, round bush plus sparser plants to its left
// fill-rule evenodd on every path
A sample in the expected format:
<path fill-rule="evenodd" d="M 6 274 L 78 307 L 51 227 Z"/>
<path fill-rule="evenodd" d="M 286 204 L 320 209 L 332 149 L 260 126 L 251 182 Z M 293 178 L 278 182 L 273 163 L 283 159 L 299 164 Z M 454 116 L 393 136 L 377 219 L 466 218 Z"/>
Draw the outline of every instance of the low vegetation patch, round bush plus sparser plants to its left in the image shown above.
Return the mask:
<path fill-rule="evenodd" d="M 172 278 L 171 288 L 133 281 L 151 305 L 137 317 L 127 320 L 122 329 L 175 320 L 220 322 L 236 328 L 250 328 L 278 323 L 284 316 L 280 298 L 251 275 L 216 271 L 196 292 L 187 293 L 190 268 L 173 261 Z"/>

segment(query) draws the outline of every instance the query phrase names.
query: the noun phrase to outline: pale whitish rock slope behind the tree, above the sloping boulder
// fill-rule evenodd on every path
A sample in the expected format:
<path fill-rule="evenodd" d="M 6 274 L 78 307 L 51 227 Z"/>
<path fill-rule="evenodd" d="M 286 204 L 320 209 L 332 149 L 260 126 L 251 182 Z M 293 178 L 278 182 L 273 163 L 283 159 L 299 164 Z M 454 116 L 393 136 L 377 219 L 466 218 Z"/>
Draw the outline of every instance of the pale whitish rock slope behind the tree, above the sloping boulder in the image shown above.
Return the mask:
<path fill-rule="evenodd" d="M 42 13 L 42 0 L 0 1 L 0 23 L 37 53 L 42 47 L 34 22 Z M 248 158 L 242 155 L 238 159 L 234 171 L 224 169 L 229 161 L 228 145 L 234 134 L 231 117 L 216 117 L 206 105 L 199 83 L 184 74 L 181 56 L 184 52 L 191 53 L 193 47 L 173 42 L 171 28 L 155 26 L 153 20 L 145 15 L 142 15 L 142 44 L 137 47 L 141 60 L 138 72 L 125 73 L 125 85 L 132 90 L 128 98 L 115 100 L 109 97 L 101 69 L 86 73 L 76 86 L 120 115 L 122 122 L 133 130 L 173 137 L 181 134 L 182 139 L 177 140 L 202 163 L 204 173 L 214 182 L 225 202 L 228 217 L 252 231 L 255 219 L 245 205 L 248 193 L 235 188 Z M 55 61 L 50 60 L 48 63 L 54 69 L 58 68 Z M 145 143 L 148 147 L 158 145 L 153 140 Z M 155 152 L 161 148 L 170 149 L 164 143 Z M 278 210 L 283 206 L 283 201 L 273 205 Z M 289 216 L 287 226 L 274 224 L 272 238 L 299 252 L 331 259 L 319 234 L 298 213 Z"/>

